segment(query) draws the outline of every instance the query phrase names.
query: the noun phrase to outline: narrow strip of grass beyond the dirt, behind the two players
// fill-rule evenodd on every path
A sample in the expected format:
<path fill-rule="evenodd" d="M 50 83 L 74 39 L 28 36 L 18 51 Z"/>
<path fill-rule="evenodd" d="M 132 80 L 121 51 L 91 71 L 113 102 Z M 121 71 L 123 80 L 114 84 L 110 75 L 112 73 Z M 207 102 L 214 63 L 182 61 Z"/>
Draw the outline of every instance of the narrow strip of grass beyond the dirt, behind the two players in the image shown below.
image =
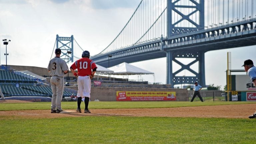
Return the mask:
<path fill-rule="evenodd" d="M 249 104 L 256 102 L 213 102 L 213 101 L 194 101 L 194 102 L 89 102 L 89 109 L 120 109 L 120 108 L 168 108 L 168 107 L 187 107 L 187 106 L 208 106 L 208 105 L 229 105 L 229 104 Z M 62 109 L 76 109 L 77 102 L 61 102 Z M 84 103 L 81 104 L 84 106 Z M 50 102 L 33 103 L 0 103 L 0 111 L 3 110 L 46 110 L 50 109 Z"/>

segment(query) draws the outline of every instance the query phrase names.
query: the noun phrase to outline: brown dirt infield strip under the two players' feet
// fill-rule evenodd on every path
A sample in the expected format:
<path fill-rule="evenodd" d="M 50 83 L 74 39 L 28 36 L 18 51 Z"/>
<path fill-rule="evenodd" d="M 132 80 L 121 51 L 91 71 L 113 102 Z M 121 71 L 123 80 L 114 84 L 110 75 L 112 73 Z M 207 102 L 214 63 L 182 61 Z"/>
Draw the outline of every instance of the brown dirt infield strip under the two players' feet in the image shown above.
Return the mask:
<path fill-rule="evenodd" d="M 10 100 L 6 100 L 8 102 Z M 78 113 L 64 110 L 50 113 L 50 110 L 15 110 L 0 111 L 0 116 L 19 116 L 26 118 L 56 118 L 79 116 L 139 116 L 139 117 L 212 117 L 212 118 L 248 118 L 256 110 L 256 104 L 236 104 L 219 106 L 197 106 L 178 108 L 144 108 L 144 109 L 91 109 L 91 113 Z M 83 112 L 83 110 L 82 110 Z"/>

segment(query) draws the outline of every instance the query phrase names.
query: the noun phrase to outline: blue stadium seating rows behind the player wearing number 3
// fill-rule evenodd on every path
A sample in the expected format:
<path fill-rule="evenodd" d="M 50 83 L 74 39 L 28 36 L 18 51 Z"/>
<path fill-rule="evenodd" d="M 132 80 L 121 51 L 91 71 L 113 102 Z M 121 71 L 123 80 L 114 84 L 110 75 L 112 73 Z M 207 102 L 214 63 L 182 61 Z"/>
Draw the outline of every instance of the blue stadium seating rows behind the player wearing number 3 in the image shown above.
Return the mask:
<path fill-rule="evenodd" d="M 0 70 L 0 87 L 5 97 L 10 96 L 52 96 L 51 86 L 18 75 L 9 70 Z M 65 96 L 76 95 L 77 91 L 65 89 Z"/>

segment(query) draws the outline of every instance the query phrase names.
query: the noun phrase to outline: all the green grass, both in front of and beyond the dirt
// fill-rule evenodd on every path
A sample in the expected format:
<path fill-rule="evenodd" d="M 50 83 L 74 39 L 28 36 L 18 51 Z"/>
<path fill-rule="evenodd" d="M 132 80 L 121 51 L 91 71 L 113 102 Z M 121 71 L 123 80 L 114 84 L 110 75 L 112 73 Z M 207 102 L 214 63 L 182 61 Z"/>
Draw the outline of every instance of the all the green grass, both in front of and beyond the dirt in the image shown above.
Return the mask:
<path fill-rule="evenodd" d="M 256 102 L 90 102 L 90 109 L 161 108 Z M 48 102 L 0 103 L 0 110 L 49 109 Z M 62 102 L 75 109 L 76 102 Z M 83 116 L 0 116 L 1 144 L 254 143 L 256 119 Z"/>

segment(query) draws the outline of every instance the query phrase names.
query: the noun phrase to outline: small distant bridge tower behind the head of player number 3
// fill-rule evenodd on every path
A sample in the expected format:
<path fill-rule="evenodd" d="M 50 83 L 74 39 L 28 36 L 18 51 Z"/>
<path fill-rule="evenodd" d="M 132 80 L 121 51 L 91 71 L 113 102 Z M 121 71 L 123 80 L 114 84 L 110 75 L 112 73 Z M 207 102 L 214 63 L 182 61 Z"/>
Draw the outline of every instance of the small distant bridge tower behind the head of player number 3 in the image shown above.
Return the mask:
<path fill-rule="evenodd" d="M 74 61 L 73 40 L 73 35 L 71 35 L 71 37 L 59 37 L 59 35 L 56 35 L 56 48 L 61 49 L 62 55 L 60 57 L 64 59 L 67 63 Z"/>

